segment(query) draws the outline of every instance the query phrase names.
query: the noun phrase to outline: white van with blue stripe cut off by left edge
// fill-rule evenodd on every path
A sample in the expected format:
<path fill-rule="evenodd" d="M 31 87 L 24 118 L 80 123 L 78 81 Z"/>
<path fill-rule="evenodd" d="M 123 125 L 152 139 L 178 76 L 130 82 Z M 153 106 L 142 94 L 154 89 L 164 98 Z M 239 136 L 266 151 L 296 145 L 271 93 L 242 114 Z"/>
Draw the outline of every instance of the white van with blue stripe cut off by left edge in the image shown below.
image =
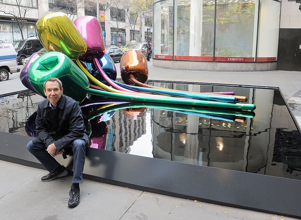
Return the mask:
<path fill-rule="evenodd" d="M 0 40 L 0 81 L 6 81 L 9 73 L 20 72 L 17 54 L 11 42 Z"/>

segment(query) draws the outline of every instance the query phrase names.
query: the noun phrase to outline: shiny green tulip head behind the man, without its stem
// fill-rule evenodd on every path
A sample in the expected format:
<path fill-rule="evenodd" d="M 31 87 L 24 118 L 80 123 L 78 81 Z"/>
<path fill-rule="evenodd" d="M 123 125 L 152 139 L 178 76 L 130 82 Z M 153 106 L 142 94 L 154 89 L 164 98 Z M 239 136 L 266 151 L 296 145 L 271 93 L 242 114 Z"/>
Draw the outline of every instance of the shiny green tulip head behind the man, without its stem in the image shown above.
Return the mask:
<path fill-rule="evenodd" d="M 28 72 L 33 88 L 44 96 L 43 84 L 46 79 L 56 77 L 63 83 L 64 94 L 82 102 L 89 88 L 88 78 L 66 55 L 59 52 L 45 53 L 36 59 Z"/>

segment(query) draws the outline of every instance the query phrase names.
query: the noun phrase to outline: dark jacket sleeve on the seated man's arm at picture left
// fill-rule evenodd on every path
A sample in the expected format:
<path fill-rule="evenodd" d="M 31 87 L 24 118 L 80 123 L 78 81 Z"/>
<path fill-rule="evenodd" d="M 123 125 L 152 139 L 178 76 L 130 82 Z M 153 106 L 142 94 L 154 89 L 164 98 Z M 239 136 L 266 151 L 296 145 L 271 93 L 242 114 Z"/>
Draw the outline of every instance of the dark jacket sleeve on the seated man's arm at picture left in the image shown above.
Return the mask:
<path fill-rule="evenodd" d="M 40 107 L 39 104 L 36 117 L 36 134 L 38 135 L 39 139 L 45 144 L 45 146 L 48 147 L 54 142 L 54 139 L 48 133 L 48 126 L 43 121 L 42 114 L 44 113 L 41 111 L 41 109 L 42 107 Z"/>

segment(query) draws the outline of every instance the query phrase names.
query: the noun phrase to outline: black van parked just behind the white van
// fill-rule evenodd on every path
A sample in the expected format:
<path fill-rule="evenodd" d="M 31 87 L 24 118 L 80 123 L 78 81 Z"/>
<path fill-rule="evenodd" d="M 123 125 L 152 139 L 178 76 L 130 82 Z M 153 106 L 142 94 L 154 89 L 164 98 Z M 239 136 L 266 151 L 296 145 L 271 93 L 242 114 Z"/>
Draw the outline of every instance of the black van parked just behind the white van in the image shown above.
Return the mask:
<path fill-rule="evenodd" d="M 38 37 L 29 37 L 25 40 L 15 40 L 13 42 L 14 49 L 17 54 L 17 61 L 23 64 L 26 57 L 30 57 L 33 53 L 43 48 Z"/>

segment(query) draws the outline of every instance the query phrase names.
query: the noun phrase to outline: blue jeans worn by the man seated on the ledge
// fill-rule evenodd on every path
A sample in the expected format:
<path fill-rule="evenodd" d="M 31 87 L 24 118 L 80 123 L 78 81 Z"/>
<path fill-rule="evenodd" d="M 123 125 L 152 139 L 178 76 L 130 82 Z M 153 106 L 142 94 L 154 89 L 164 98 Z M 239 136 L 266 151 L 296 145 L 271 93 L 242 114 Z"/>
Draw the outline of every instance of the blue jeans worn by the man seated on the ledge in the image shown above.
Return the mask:
<path fill-rule="evenodd" d="M 47 151 L 47 147 L 43 142 L 33 145 L 32 141 L 27 144 L 27 150 L 34 155 L 49 171 L 53 172 L 59 164 L 54 157 Z M 85 141 L 83 139 L 76 139 L 72 145 L 73 151 L 73 179 L 72 183 L 82 183 L 82 172 L 85 165 Z"/>

